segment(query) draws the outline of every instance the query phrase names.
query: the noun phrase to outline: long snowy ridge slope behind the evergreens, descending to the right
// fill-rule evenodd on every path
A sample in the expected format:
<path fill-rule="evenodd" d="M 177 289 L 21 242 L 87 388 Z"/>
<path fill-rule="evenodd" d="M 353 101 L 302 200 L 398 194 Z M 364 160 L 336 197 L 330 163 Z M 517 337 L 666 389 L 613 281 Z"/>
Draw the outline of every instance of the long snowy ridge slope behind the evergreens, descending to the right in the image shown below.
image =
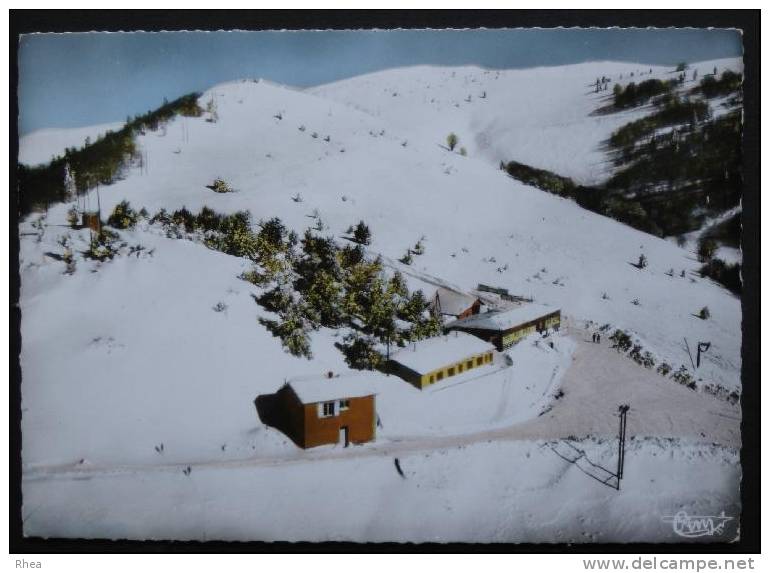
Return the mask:
<path fill-rule="evenodd" d="M 317 96 L 266 82 L 226 84 L 210 94 L 219 121 L 183 120 L 187 142 L 182 121 L 165 136 L 139 138 L 147 169 L 106 188 L 105 211 L 123 199 L 151 213 L 247 208 L 255 219 L 279 216 L 301 231 L 317 209 L 338 236 L 365 220 L 371 250 L 392 259 L 424 235 L 417 270 L 467 289 L 506 287 L 568 315 L 629 329 L 675 367 L 689 363 L 685 337 L 691 347 L 711 341 L 699 375 L 738 387 L 740 301 L 701 279 L 691 252 L 521 185 L 484 160 L 433 144 L 403 147 L 382 120 Z M 282 120 L 273 117 L 279 111 Z M 205 186 L 215 177 L 237 191 L 211 192 Z M 292 201 L 296 194 L 303 202 Z M 64 210 L 52 212 L 52 222 L 63 221 Z M 631 263 L 642 253 L 649 266 L 640 271 Z M 703 306 L 712 319 L 693 316 Z"/>

